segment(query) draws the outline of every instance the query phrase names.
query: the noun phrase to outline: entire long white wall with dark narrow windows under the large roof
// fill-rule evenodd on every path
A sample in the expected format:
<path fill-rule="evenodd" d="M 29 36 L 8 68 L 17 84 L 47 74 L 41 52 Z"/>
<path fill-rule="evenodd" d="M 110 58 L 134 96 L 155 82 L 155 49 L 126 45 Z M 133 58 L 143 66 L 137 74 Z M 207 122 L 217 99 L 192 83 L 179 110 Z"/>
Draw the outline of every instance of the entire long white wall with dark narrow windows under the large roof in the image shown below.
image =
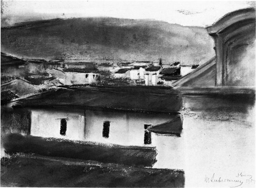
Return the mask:
<path fill-rule="evenodd" d="M 60 135 L 62 118 L 67 119 L 66 136 Z M 86 110 L 84 115 L 83 110 L 31 110 L 31 135 L 143 146 L 144 124 L 158 125 L 171 119 L 168 114 Z M 104 121 L 110 121 L 109 138 L 102 137 Z"/>

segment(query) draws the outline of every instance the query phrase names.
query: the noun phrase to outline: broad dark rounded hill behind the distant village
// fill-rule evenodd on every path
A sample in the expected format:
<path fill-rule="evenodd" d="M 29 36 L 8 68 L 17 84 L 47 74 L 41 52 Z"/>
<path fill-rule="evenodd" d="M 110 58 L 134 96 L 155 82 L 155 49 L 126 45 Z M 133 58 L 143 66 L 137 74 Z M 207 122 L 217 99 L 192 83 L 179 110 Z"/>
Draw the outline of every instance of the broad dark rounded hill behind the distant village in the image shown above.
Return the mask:
<path fill-rule="evenodd" d="M 1 28 L 1 48 L 24 58 L 71 61 L 162 57 L 200 64 L 214 55 L 213 40 L 204 28 L 118 18 L 52 19 Z"/>

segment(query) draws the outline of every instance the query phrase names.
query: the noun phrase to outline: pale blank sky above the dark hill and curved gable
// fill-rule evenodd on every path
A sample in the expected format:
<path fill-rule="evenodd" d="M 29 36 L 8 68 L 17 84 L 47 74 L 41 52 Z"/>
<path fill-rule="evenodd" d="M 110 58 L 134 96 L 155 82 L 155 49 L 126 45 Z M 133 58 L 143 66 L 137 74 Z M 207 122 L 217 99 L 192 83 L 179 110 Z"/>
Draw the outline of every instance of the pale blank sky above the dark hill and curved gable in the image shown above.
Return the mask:
<path fill-rule="evenodd" d="M 1 1 L 1 27 L 71 17 L 155 19 L 183 26 L 209 26 L 255 1 Z"/>

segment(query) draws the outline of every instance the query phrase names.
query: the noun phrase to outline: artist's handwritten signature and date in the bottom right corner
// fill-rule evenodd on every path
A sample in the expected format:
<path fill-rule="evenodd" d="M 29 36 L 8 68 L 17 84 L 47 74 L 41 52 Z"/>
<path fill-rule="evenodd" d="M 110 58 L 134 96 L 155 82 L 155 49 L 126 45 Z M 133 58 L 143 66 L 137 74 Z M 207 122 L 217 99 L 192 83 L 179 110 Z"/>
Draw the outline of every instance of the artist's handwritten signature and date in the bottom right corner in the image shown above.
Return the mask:
<path fill-rule="evenodd" d="M 224 182 L 232 182 L 236 183 L 236 186 L 232 187 L 239 187 L 243 184 L 255 184 L 255 178 L 251 174 L 244 174 L 242 172 L 238 172 L 234 178 L 223 178 L 221 176 L 216 176 L 215 173 L 211 177 L 205 175 L 204 182 L 206 183 L 224 183 Z"/>

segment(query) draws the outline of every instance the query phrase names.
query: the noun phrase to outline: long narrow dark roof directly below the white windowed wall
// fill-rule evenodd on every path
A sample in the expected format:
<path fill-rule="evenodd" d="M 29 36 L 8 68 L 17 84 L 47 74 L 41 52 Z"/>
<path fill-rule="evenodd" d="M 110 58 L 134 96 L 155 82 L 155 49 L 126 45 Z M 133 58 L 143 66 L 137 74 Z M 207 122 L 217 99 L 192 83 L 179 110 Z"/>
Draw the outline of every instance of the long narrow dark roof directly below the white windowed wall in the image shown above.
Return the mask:
<path fill-rule="evenodd" d="M 103 145 L 20 134 L 8 134 L 2 142 L 8 154 L 34 153 L 129 166 L 152 167 L 157 155 L 155 147 Z"/>

